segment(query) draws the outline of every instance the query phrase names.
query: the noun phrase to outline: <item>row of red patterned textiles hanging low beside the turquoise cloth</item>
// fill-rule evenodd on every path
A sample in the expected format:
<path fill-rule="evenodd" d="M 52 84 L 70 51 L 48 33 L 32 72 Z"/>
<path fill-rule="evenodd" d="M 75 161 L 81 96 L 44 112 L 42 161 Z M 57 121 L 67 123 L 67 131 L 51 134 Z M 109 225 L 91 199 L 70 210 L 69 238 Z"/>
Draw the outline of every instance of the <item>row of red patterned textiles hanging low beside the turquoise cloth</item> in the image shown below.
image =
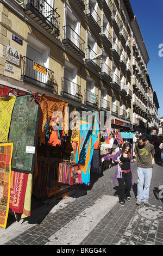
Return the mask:
<path fill-rule="evenodd" d="M 58 182 L 68 185 L 82 182 L 80 164 L 59 163 Z"/>

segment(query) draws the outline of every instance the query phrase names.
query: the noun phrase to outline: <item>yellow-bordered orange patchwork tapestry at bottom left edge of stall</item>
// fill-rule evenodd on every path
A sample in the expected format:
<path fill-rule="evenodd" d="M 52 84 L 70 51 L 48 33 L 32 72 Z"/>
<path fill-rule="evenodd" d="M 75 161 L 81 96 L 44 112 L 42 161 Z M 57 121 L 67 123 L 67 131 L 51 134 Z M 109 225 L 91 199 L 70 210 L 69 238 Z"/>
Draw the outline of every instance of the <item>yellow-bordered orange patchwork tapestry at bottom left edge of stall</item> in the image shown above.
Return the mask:
<path fill-rule="evenodd" d="M 0 227 L 7 225 L 13 144 L 0 144 Z"/>

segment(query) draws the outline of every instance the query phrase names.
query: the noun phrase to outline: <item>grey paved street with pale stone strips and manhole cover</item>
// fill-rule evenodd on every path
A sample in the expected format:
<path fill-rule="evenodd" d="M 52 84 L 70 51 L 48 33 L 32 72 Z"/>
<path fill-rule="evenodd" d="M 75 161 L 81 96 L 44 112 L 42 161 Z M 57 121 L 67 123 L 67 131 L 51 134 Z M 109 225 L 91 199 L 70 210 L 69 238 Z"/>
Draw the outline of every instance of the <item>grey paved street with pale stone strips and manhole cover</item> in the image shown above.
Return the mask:
<path fill-rule="evenodd" d="M 91 186 L 76 185 L 66 199 L 33 199 L 32 215 L 0 228 L 0 245 L 163 245 L 163 167 L 156 159 L 149 206 L 136 206 L 136 163 L 131 201 L 118 202 L 116 166 L 91 174 Z M 162 186 L 162 188 L 160 187 Z M 159 189 L 160 188 L 160 189 Z"/>

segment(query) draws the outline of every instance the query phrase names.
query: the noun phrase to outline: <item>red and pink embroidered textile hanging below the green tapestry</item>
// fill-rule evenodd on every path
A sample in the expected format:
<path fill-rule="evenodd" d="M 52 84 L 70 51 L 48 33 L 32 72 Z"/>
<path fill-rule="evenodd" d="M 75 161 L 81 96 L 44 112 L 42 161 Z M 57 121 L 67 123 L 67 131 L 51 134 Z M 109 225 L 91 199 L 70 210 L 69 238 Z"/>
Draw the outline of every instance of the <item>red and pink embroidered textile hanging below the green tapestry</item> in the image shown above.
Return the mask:
<path fill-rule="evenodd" d="M 26 193 L 28 173 L 11 171 L 10 205 L 9 208 L 22 214 Z"/>

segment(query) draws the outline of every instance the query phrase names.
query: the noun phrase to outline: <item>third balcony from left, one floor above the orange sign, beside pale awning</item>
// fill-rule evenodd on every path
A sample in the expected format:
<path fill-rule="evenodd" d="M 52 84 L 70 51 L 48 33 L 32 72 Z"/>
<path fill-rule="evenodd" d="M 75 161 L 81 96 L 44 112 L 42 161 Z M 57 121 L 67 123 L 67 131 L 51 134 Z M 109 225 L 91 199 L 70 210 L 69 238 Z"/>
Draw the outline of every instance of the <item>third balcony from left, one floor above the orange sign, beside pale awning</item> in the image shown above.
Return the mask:
<path fill-rule="evenodd" d="M 90 68 L 92 68 L 96 72 L 101 72 L 101 59 L 96 59 L 96 60 L 92 59 L 96 55 L 97 53 L 94 52 L 91 48 L 86 48 L 85 62 L 86 62 L 86 65 L 90 66 Z"/>

